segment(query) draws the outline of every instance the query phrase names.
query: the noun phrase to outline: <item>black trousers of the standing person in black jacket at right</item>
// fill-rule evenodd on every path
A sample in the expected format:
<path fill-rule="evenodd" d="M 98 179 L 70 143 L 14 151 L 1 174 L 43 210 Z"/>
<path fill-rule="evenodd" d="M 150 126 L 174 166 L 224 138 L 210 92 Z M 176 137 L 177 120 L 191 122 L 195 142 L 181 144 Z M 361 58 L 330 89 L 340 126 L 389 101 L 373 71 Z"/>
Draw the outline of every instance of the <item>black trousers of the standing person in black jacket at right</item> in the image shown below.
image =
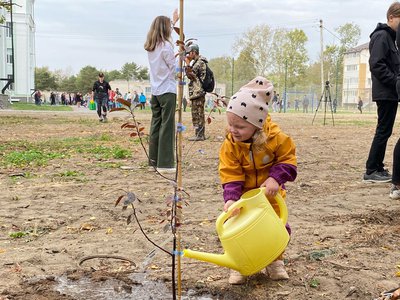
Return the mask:
<path fill-rule="evenodd" d="M 397 101 L 376 101 L 378 107 L 378 124 L 372 140 L 366 163 L 367 174 L 383 171 L 386 145 L 392 135 L 394 121 L 397 113 Z"/>

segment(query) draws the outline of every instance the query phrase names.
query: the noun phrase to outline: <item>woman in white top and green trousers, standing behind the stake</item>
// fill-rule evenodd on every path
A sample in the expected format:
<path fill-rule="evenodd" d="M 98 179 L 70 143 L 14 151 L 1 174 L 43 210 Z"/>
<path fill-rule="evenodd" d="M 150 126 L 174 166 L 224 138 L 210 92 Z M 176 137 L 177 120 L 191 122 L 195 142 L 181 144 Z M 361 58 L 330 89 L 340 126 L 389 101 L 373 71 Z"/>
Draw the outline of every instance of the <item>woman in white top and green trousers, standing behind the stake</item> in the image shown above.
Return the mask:
<path fill-rule="evenodd" d="M 177 11 L 174 21 L 178 19 Z M 175 55 L 171 41 L 173 24 L 166 16 L 154 19 L 144 49 L 148 53 L 151 82 L 149 166 L 159 172 L 175 172 Z"/>

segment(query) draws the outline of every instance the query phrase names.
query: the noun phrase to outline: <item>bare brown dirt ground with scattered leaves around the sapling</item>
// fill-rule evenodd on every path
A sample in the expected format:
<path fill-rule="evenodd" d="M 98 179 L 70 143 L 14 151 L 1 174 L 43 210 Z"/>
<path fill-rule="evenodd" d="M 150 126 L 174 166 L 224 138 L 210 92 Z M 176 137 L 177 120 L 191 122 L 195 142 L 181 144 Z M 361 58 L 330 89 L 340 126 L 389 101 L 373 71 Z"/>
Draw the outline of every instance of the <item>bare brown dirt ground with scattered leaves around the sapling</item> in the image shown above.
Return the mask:
<path fill-rule="evenodd" d="M 209 138 L 196 143 L 186 140 L 192 133 L 190 113 L 183 116 L 183 186 L 190 198 L 180 234 L 183 247 L 222 253 L 214 224 L 223 206 L 217 166 L 225 116 L 212 116 Z M 171 299 L 170 257 L 157 251 L 146 259 L 154 246 L 135 222 L 127 225 L 131 210 L 114 207 L 124 191 L 134 192 L 142 201 L 136 207 L 145 232 L 172 249 L 162 221 L 173 186 L 148 171 L 140 145 L 121 129 L 126 117 L 115 112 L 103 124 L 85 109 L 0 111 L 0 159 L 12 150 L 27 150 L 28 143 L 48 144 L 51 150 L 54 141 L 88 137 L 93 147 L 119 145 L 132 151 L 132 157 L 116 159 L 58 148 L 64 156 L 46 165 L 1 165 L 0 299 Z M 389 198 L 390 184 L 361 181 L 376 116 L 335 114 L 335 126 L 329 114 L 324 126 L 323 117 L 318 112 L 312 125 L 313 114 L 272 114 L 297 145 L 298 178 L 287 184 L 290 280 L 274 282 L 257 274 L 243 286 L 230 286 L 228 269 L 182 258 L 185 299 L 373 299 L 399 285 L 400 203 Z M 150 113 L 138 112 L 137 119 L 148 132 Z M 398 123 L 393 136 L 400 136 Z M 388 167 L 394 143 L 392 138 Z M 136 267 L 108 258 L 78 265 L 93 255 L 122 256 Z M 147 278 L 142 295 L 135 289 L 145 284 L 135 274 Z M 77 282 L 75 293 L 62 288 Z M 104 286 L 111 287 L 108 294 L 96 293 Z"/>

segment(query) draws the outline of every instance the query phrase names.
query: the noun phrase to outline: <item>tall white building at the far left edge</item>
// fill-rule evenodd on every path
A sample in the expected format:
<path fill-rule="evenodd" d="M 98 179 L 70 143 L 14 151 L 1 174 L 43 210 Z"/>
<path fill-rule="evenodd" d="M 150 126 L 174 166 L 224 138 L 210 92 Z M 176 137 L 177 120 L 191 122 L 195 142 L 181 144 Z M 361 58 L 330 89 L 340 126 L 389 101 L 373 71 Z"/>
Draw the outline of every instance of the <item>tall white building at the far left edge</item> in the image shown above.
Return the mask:
<path fill-rule="evenodd" d="M 12 3 L 13 26 L 10 12 L 0 9 L 6 19 L 0 26 L 0 78 L 12 77 L 14 70 L 14 83 L 5 93 L 12 99 L 26 101 L 31 98 L 35 84 L 35 0 L 13 0 Z M 6 84 L 6 80 L 0 81 L 0 92 Z"/>

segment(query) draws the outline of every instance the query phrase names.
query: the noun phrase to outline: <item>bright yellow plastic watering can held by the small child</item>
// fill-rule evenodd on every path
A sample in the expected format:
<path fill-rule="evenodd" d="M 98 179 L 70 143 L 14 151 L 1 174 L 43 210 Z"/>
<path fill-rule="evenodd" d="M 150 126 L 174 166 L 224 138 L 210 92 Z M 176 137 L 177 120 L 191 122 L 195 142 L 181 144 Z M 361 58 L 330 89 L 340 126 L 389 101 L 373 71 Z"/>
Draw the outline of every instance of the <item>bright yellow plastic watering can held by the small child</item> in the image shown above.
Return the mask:
<path fill-rule="evenodd" d="M 250 190 L 232 204 L 216 221 L 216 228 L 224 254 L 212 254 L 189 249 L 183 256 L 210 262 L 222 267 L 251 275 L 277 259 L 289 243 L 285 228 L 287 207 L 277 193 L 280 216 L 276 214 L 267 197 L 265 188 Z M 240 214 L 230 218 L 233 210 L 240 208 Z"/>

